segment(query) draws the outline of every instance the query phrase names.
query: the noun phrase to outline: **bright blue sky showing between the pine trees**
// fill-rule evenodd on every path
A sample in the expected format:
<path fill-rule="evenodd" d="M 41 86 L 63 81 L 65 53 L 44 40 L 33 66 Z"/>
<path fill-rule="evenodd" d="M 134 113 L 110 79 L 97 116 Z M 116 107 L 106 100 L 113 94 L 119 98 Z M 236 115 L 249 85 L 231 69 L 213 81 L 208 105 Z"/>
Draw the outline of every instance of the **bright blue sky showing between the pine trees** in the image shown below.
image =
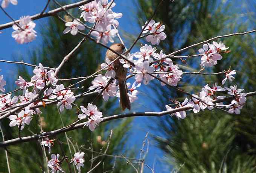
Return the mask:
<path fill-rule="evenodd" d="M 132 32 L 134 34 L 139 34 L 140 27 L 137 26 L 136 23 L 136 16 L 134 15 L 134 12 L 136 9 L 134 8 L 133 0 L 130 1 L 123 1 L 123 0 L 116 0 L 116 7 L 113 9 L 115 12 L 122 12 L 123 17 L 119 19 L 120 28 L 124 29 L 127 32 Z M 8 8 L 6 8 L 6 11 L 9 15 L 11 15 L 12 18 L 17 20 L 21 16 L 24 15 L 34 15 L 37 13 L 40 13 L 44 6 L 46 5 L 47 0 L 26 0 L 18 1 L 18 5 L 14 6 L 10 4 Z M 128 10 L 129 9 L 129 10 Z M 0 24 L 7 23 L 11 21 L 2 11 L 0 12 Z M 11 37 L 11 33 L 13 31 L 12 28 L 8 28 L 5 30 L 2 30 L 2 33 L 0 33 L 0 40 L 1 40 L 1 46 L 0 46 L 0 59 L 3 60 L 14 60 L 18 59 L 20 55 L 23 57 L 26 57 L 28 53 L 33 50 L 34 47 L 37 47 L 41 44 L 41 34 L 40 30 L 43 28 L 41 26 L 47 25 L 47 18 L 42 18 L 39 20 L 34 21 L 37 26 L 35 27 L 35 30 L 37 31 L 37 38 L 29 43 L 29 44 L 17 44 L 15 40 Z M 122 32 L 121 32 L 122 36 Z M 125 41 L 126 42 L 126 41 Z M 137 51 L 138 48 L 134 48 L 133 52 Z M 23 59 L 24 62 L 29 62 L 29 59 Z M 16 65 L 14 64 L 6 64 L 0 62 L 0 75 L 4 75 L 4 79 L 8 82 L 13 81 L 13 77 L 15 76 L 15 79 L 18 77 L 16 72 Z M 144 90 L 145 86 L 142 86 L 140 90 L 142 91 L 140 93 L 141 98 L 136 102 L 136 111 L 161 111 L 156 106 L 152 106 L 152 103 L 149 100 L 148 97 L 153 95 L 153 93 Z M 143 104 L 141 104 L 143 103 Z M 153 123 L 152 123 L 153 122 Z M 151 120 L 149 117 L 137 117 L 134 119 L 132 123 L 132 135 L 130 138 L 130 141 L 127 144 L 127 147 L 135 148 L 137 149 L 137 153 L 140 153 L 140 148 L 142 146 L 142 142 L 144 140 L 146 132 L 149 132 L 149 134 L 153 134 L 154 131 L 148 128 L 148 125 L 154 125 L 154 121 Z M 168 165 L 163 165 L 159 162 L 159 160 L 163 159 L 163 153 L 161 150 L 157 149 L 155 147 L 154 142 L 149 137 L 149 153 L 146 157 L 146 163 L 155 168 L 156 172 L 167 172 Z M 145 168 L 145 173 L 150 172 Z M 168 171 L 169 172 L 169 171 Z"/>

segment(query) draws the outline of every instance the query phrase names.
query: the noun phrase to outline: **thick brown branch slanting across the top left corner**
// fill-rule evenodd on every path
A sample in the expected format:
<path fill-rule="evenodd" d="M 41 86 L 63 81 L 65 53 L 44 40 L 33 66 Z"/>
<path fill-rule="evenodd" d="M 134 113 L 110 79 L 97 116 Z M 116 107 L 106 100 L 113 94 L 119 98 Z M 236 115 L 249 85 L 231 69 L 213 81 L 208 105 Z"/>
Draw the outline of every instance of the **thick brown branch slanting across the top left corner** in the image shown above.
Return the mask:
<path fill-rule="evenodd" d="M 76 3 L 69 4 L 69 5 L 65 5 L 65 6 L 63 6 L 63 8 L 65 8 L 66 10 L 68 10 L 68 9 L 72 9 L 72 8 L 79 7 L 79 6 L 81 6 L 81 5 L 87 4 L 87 3 L 92 2 L 92 1 L 93 1 L 93 0 L 82 0 L 82 1 L 80 1 L 80 2 L 76 2 Z M 35 14 L 35 15 L 30 16 L 30 19 L 32 19 L 32 20 L 37 20 L 37 19 L 40 19 L 40 18 L 43 18 L 43 17 L 53 16 L 53 15 L 59 13 L 59 12 L 64 11 L 63 8 L 56 8 L 56 9 L 53 9 L 53 10 L 51 10 L 51 11 L 44 12 L 43 14 L 38 13 L 38 14 Z M 0 25 L 0 30 L 6 29 L 6 28 L 8 28 L 8 27 L 12 27 L 13 24 L 19 23 L 19 22 L 20 22 L 20 20 L 15 20 L 15 22 L 13 21 L 13 22 L 1 24 L 1 25 Z"/>

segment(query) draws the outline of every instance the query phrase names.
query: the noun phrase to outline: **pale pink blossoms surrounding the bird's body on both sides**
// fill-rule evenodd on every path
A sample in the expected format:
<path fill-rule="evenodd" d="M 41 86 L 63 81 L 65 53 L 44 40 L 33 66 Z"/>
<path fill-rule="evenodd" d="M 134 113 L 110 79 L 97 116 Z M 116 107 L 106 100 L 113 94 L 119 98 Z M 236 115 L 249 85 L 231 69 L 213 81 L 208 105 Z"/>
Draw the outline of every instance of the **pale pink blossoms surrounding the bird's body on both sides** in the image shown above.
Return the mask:
<path fill-rule="evenodd" d="M 136 81 L 133 83 L 132 88 L 129 88 L 131 83 L 127 83 L 128 96 L 131 103 L 138 99 L 137 94 L 139 92 L 135 89 L 141 85 L 140 83 L 143 82 L 147 85 L 155 78 L 151 74 L 153 72 L 157 73 L 155 76 L 159 73 L 162 85 L 168 83 L 168 85 L 177 86 L 178 82 L 182 79 L 181 76 L 183 72 L 180 70 L 179 66 L 177 64 L 174 65 L 172 60 L 167 58 L 162 50 L 160 53 L 157 53 L 156 51 L 157 49 L 155 47 L 145 44 L 140 48 L 139 52 L 131 53 L 126 56 L 129 61 L 135 64 L 135 67 L 124 59 L 119 60 L 124 68 L 128 68 L 127 71 L 130 72 L 130 75 L 135 74 Z M 89 90 L 95 89 L 95 91 L 101 93 L 104 89 L 102 96 L 105 101 L 108 100 L 110 96 L 120 97 L 119 87 L 116 84 L 116 80 L 110 81 L 111 77 L 114 78 L 116 76 L 113 63 L 106 58 L 106 62 L 102 63 L 101 67 L 105 68 L 105 75 L 103 76 L 102 74 L 99 74 L 95 77 L 91 82 L 92 86 L 89 87 Z"/>

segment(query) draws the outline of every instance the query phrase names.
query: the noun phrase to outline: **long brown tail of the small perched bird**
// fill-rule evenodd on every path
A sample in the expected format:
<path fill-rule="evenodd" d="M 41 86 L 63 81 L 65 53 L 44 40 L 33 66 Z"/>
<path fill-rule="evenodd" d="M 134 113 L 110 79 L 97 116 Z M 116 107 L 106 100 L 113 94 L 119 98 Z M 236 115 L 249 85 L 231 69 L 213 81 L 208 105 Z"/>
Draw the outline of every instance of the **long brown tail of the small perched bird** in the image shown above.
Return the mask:
<path fill-rule="evenodd" d="M 120 106 L 122 108 L 122 111 L 127 109 L 131 109 L 131 103 L 129 100 L 129 96 L 127 94 L 127 89 L 126 89 L 126 83 L 125 82 L 119 82 L 119 90 L 120 90 Z"/>

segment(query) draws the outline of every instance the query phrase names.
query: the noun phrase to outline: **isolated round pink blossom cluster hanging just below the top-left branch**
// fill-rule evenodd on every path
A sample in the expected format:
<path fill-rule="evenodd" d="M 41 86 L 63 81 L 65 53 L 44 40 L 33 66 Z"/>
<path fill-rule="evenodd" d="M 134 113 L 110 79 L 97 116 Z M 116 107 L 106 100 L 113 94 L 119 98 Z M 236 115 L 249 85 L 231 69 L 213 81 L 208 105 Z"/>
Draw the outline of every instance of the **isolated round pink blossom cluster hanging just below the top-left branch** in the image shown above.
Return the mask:
<path fill-rule="evenodd" d="M 31 42 L 37 36 L 35 28 L 35 23 L 30 19 L 30 16 L 23 16 L 20 17 L 20 22 L 18 25 L 14 24 L 12 29 L 15 31 L 12 32 L 12 37 L 15 39 L 16 42 L 19 44 Z"/>

